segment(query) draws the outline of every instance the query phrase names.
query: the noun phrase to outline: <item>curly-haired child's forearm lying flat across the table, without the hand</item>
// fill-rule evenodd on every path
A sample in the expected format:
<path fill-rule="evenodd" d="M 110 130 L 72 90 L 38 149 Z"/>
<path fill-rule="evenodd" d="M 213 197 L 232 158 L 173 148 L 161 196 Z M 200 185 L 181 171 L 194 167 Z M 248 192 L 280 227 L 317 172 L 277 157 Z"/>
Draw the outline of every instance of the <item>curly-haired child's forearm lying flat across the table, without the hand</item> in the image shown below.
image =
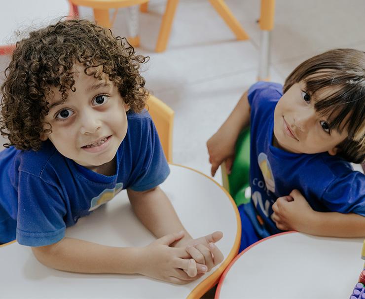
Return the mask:
<path fill-rule="evenodd" d="M 42 264 L 57 270 L 78 273 L 141 273 L 143 248 L 121 248 L 64 238 L 58 243 L 33 247 Z"/>

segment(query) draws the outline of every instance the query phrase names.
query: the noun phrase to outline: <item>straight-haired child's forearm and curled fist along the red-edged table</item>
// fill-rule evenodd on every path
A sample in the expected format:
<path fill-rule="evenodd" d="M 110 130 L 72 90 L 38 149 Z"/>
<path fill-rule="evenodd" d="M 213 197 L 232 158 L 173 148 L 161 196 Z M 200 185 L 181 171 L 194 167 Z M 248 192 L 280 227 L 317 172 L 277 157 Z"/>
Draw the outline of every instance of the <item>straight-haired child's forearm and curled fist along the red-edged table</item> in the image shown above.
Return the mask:
<path fill-rule="evenodd" d="M 298 190 L 279 197 L 272 209 L 272 219 L 282 230 L 327 237 L 365 237 L 365 217 L 355 213 L 314 211 Z"/>

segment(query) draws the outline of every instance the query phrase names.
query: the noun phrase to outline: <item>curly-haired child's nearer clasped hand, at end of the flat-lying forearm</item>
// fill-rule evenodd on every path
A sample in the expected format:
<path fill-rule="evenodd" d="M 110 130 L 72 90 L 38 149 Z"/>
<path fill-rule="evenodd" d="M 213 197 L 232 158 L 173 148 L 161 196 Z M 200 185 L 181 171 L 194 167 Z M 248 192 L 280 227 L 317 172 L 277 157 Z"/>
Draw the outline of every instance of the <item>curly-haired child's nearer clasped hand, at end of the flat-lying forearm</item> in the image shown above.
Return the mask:
<path fill-rule="evenodd" d="M 139 273 L 176 284 L 185 284 L 203 276 L 207 271 L 205 265 L 197 264 L 184 248 L 169 247 L 183 235 L 183 232 L 168 234 L 143 247 L 145 262 Z"/>

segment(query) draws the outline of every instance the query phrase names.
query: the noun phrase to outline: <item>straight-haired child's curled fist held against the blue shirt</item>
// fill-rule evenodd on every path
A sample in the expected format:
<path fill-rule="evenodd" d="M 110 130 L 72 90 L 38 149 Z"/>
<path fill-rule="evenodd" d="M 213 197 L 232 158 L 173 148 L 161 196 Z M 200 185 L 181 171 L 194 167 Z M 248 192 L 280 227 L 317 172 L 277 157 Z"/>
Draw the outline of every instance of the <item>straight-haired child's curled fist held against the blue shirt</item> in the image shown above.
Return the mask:
<path fill-rule="evenodd" d="M 281 230 L 297 230 L 306 232 L 310 216 L 314 212 L 307 200 L 298 190 L 290 195 L 279 197 L 272 206 L 272 220 Z"/>

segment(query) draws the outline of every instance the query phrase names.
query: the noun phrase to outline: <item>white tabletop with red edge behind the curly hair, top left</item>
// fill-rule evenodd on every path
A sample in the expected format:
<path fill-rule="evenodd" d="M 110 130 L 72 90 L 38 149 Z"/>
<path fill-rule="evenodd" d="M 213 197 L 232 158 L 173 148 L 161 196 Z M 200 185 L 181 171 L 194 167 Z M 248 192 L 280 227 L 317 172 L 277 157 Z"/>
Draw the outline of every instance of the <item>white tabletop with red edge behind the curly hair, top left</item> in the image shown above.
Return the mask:
<path fill-rule="evenodd" d="M 23 38 L 16 31 L 29 32 L 73 14 L 68 0 L 0 0 L 0 54 L 10 53 L 12 45 Z"/>

